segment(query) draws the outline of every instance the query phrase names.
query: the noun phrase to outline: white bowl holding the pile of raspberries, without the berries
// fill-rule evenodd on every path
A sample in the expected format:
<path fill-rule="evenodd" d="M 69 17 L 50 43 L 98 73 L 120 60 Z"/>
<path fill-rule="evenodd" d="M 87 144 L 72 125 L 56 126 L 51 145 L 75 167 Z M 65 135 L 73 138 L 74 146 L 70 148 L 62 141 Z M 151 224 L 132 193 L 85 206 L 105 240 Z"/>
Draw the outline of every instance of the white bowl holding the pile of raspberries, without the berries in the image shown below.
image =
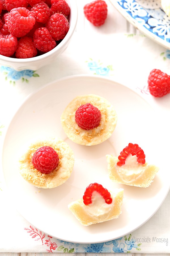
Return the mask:
<path fill-rule="evenodd" d="M 28 59 L 16 59 L 0 54 L 0 65 L 13 68 L 17 71 L 22 71 L 25 69 L 37 70 L 56 59 L 56 57 L 67 48 L 77 24 L 78 11 L 76 0 L 67 0 L 67 3 L 70 7 L 69 31 L 67 32 L 65 38 L 54 49 L 40 56 Z"/>

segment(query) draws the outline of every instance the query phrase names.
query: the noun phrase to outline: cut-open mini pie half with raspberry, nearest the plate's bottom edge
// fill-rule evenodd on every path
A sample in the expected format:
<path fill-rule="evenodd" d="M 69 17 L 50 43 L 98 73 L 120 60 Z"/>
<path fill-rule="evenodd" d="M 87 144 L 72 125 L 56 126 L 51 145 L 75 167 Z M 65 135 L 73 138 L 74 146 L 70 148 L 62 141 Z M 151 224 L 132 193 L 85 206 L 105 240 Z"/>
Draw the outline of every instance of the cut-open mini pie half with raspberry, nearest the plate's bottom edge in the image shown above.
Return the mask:
<path fill-rule="evenodd" d="M 123 189 L 110 193 L 101 184 L 91 183 L 83 198 L 69 203 L 68 208 L 80 224 L 89 226 L 118 218 L 122 213 L 123 194 Z"/>

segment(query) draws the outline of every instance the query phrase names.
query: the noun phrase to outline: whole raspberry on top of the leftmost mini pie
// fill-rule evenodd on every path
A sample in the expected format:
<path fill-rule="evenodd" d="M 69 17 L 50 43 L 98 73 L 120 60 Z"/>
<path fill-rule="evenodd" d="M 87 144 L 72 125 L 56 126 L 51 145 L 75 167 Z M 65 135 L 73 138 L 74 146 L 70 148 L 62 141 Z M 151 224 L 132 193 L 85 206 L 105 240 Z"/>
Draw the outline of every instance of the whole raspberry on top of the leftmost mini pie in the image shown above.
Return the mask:
<path fill-rule="evenodd" d="M 56 169 L 59 163 L 57 152 L 49 146 L 38 148 L 32 157 L 32 164 L 35 169 L 42 173 L 50 173 Z"/>

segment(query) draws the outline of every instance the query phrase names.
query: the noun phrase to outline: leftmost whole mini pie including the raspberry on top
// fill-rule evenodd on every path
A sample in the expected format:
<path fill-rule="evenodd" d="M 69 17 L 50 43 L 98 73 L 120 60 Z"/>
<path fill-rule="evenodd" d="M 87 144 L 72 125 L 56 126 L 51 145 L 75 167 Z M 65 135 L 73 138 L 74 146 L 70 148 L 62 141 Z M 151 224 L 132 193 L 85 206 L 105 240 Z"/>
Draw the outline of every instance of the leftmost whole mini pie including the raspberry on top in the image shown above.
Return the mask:
<path fill-rule="evenodd" d="M 31 144 L 19 161 L 21 176 L 39 188 L 63 184 L 74 166 L 74 153 L 61 139 L 48 139 Z"/>

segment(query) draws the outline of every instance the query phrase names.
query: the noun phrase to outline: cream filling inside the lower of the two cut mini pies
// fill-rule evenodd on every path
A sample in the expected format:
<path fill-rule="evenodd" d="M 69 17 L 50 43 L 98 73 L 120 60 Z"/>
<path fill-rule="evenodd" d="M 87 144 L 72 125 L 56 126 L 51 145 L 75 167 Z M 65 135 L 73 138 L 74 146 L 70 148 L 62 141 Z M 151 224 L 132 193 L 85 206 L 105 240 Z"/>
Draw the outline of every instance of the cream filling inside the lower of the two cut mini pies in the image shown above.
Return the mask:
<path fill-rule="evenodd" d="M 97 217 L 99 220 L 102 220 L 109 215 L 113 206 L 113 200 L 111 204 L 107 204 L 105 199 L 97 191 L 94 191 L 92 193 L 92 203 L 86 205 L 85 209 L 88 214 Z"/>

